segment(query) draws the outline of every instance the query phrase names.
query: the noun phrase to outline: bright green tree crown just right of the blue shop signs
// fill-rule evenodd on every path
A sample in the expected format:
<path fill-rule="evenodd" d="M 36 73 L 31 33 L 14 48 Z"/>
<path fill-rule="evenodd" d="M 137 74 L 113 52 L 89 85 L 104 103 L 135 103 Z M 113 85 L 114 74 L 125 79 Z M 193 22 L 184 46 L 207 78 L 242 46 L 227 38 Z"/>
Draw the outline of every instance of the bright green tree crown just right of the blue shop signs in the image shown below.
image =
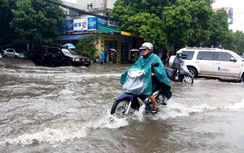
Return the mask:
<path fill-rule="evenodd" d="M 161 13 L 165 1 L 117 0 L 109 17 L 117 22 L 118 28 L 150 41 L 166 45 L 166 35 L 162 31 Z"/>

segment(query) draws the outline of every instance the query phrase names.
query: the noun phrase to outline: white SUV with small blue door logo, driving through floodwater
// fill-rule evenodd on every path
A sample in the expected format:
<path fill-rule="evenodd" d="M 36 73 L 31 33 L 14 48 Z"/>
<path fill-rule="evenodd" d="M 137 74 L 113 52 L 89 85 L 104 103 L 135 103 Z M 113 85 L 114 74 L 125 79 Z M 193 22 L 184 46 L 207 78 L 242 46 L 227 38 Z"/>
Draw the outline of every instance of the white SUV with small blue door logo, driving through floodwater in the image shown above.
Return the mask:
<path fill-rule="evenodd" d="M 244 59 L 230 50 L 219 48 L 182 48 L 182 59 L 194 77 L 244 80 Z M 169 59 L 172 67 L 175 55 Z"/>

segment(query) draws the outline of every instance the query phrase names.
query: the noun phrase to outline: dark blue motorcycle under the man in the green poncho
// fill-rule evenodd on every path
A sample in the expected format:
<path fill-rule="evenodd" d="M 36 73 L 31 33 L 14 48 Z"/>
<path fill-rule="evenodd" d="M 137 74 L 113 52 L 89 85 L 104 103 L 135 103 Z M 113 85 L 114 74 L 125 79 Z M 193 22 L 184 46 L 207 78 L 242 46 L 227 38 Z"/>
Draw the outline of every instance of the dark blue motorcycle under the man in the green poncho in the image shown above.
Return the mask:
<path fill-rule="evenodd" d="M 158 66 L 158 63 L 153 63 L 152 68 Z M 153 71 L 152 71 L 153 72 Z M 156 79 L 156 77 L 154 78 Z M 157 81 L 157 80 L 156 80 Z M 166 97 L 162 93 L 162 89 L 159 88 L 158 82 L 154 82 L 153 95 L 156 98 L 158 105 L 166 105 Z M 111 115 L 115 115 L 118 118 L 130 116 L 134 111 L 142 110 L 143 114 L 151 112 L 153 110 L 153 103 L 146 95 L 135 95 L 130 92 L 122 92 L 119 95 L 111 108 Z"/>

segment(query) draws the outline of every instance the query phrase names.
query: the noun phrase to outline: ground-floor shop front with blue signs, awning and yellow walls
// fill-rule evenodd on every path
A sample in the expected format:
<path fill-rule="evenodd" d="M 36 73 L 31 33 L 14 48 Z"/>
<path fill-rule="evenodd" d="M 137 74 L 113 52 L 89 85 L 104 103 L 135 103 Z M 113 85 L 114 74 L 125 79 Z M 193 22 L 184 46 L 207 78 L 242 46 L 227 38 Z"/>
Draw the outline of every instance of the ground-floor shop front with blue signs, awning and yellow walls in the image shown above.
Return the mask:
<path fill-rule="evenodd" d="M 63 35 L 61 41 L 76 44 L 83 36 L 94 33 L 101 34 L 100 39 L 94 43 L 97 48 L 96 57 L 99 57 L 101 51 L 106 49 L 110 60 L 113 59 L 114 63 L 131 63 L 130 50 L 139 48 L 142 42 L 131 33 L 118 30 L 110 21 L 97 17 L 66 20 L 66 34 Z"/>

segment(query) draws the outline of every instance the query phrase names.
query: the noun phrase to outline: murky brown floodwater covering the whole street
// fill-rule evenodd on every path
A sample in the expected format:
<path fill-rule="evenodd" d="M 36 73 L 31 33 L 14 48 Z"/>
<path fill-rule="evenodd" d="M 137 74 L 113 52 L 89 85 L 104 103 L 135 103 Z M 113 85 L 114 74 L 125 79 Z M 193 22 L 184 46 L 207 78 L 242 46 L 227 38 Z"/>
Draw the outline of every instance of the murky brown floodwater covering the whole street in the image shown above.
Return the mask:
<path fill-rule="evenodd" d="M 129 66 L 0 60 L 0 152 L 244 152 L 243 83 L 171 82 L 173 96 L 158 114 L 110 120 Z"/>

